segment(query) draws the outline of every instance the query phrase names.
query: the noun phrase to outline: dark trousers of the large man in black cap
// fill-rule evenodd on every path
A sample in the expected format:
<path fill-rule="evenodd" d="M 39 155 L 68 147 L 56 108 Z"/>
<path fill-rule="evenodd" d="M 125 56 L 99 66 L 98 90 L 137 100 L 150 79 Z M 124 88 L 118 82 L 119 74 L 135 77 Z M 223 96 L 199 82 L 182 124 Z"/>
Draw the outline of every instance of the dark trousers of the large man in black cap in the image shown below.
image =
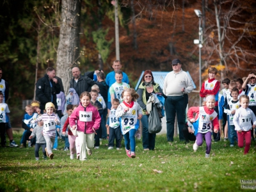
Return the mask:
<path fill-rule="evenodd" d="M 164 102 L 166 113 L 166 137 L 167 141 L 173 141 L 175 115 L 177 115 L 179 127 L 179 139 L 185 141 L 182 129 L 185 125 L 185 106 L 187 94 L 181 96 L 168 96 Z"/>

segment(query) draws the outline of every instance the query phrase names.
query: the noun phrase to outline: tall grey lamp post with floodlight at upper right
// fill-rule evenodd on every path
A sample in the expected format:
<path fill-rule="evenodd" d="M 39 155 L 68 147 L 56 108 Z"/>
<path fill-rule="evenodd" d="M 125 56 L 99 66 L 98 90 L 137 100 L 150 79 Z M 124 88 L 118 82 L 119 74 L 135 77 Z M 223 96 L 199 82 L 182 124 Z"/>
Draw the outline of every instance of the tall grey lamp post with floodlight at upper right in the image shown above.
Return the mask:
<path fill-rule="evenodd" d="M 202 86 L 202 77 L 201 77 L 201 48 L 203 47 L 202 42 L 203 42 L 203 30 L 201 28 L 201 19 L 202 19 L 202 13 L 200 10 L 194 10 L 196 15 L 199 17 L 199 40 L 195 39 L 194 44 L 198 44 L 199 47 L 199 90 L 201 89 Z M 202 104 L 202 99 L 199 96 L 199 106 Z"/>

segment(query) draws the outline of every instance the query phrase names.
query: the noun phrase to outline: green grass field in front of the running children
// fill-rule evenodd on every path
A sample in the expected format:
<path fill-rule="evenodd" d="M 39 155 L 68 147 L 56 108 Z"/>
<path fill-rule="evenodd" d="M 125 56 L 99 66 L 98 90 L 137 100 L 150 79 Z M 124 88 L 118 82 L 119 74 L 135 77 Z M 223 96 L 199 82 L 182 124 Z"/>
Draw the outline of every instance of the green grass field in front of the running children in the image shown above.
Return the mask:
<path fill-rule="evenodd" d="M 207 159 L 205 143 L 193 152 L 192 143 L 177 140 L 170 145 L 165 135 L 157 136 L 156 150 L 148 152 L 137 140 L 135 159 L 125 155 L 124 141 L 116 151 L 103 140 L 88 161 L 70 160 L 63 150 L 47 161 L 40 152 L 35 161 L 34 148 L 0 148 L 0 191 L 244 191 L 241 179 L 253 179 L 256 188 L 255 141 L 246 156 L 228 142 L 212 143 Z"/>

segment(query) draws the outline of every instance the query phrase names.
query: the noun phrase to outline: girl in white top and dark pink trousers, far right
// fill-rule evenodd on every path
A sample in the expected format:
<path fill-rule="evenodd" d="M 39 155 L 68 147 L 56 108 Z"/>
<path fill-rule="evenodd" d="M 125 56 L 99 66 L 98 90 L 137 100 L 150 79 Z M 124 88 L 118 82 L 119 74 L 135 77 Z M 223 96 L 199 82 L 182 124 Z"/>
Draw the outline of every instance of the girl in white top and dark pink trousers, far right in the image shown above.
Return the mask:
<path fill-rule="evenodd" d="M 241 108 L 236 110 L 233 118 L 235 130 L 237 131 L 238 147 L 244 147 L 244 155 L 248 154 L 251 145 L 251 129 L 256 127 L 256 117 L 249 109 L 249 97 L 247 95 L 241 95 L 239 98 Z M 253 122 L 253 125 L 251 124 Z"/>

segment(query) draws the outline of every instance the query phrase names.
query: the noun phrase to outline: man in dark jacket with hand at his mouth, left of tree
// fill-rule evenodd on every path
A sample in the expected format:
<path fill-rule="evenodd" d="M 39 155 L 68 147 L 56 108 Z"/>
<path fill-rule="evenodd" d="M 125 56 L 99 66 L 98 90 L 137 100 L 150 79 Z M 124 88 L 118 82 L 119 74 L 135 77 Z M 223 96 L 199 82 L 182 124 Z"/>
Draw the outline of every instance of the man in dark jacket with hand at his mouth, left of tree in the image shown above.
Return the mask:
<path fill-rule="evenodd" d="M 60 84 L 55 78 L 55 69 L 48 67 L 44 77 L 38 79 L 36 82 L 36 100 L 40 102 L 41 113 L 43 113 L 47 102 L 52 102 L 57 107 L 56 95 L 60 91 Z"/>

